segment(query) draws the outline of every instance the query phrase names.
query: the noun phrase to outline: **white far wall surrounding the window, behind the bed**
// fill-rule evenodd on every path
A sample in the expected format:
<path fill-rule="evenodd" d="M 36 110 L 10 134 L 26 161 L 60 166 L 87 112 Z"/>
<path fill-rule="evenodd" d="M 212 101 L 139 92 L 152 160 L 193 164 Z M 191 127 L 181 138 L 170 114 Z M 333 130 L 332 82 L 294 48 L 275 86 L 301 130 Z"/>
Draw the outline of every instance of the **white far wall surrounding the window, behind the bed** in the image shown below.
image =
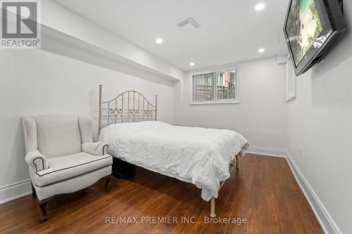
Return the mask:
<path fill-rule="evenodd" d="M 238 131 L 250 145 L 287 148 L 287 110 L 284 102 L 284 65 L 276 58 L 239 63 L 239 104 L 189 105 L 190 74 L 180 124 Z M 178 120 L 178 119 L 177 119 Z"/>

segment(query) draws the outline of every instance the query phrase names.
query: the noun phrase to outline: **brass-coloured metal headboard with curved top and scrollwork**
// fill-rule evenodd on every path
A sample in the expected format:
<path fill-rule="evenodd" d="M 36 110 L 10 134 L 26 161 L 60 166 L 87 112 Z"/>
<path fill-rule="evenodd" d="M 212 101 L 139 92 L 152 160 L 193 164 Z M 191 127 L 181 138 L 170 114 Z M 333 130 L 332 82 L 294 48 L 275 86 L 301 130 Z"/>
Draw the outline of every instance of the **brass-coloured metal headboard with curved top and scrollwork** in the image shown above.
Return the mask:
<path fill-rule="evenodd" d="M 124 122 L 141 122 L 156 120 L 158 95 L 155 105 L 151 105 L 142 93 L 125 91 L 113 100 L 101 101 L 102 85 L 99 85 L 99 133 L 104 126 Z M 105 120 L 105 122 L 102 122 Z"/>

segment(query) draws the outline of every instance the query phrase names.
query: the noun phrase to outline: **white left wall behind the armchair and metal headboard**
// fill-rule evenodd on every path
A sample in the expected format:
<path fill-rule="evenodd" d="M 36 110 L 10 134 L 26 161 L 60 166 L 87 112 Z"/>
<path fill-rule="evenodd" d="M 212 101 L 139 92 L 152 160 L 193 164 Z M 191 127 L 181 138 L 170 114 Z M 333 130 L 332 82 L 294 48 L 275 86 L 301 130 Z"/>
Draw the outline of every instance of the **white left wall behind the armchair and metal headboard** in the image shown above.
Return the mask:
<path fill-rule="evenodd" d="M 24 115 L 89 115 L 97 122 L 98 85 L 103 100 L 126 90 L 137 90 L 154 101 L 158 119 L 173 123 L 173 88 L 79 60 L 40 50 L 0 52 L 0 202 L 30 191 L 27 181 L 23 129 Z M 94 128 L 96 134 L 96 127 Z"/>

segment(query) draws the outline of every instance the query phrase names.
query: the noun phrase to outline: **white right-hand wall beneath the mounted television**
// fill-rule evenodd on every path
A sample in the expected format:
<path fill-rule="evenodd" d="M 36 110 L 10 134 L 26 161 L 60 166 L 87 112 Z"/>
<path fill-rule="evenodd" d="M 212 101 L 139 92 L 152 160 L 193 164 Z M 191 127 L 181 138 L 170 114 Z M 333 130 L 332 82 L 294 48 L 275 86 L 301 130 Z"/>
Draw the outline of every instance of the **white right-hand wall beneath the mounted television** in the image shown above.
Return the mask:
<path fill-rule="evenodd" d="M 324 63 L 298 77 L 297 98 L 287 105 L 288 150 L 341 232 L 352 233 L 351 1 L 344 13 L 344 37 Z"/>

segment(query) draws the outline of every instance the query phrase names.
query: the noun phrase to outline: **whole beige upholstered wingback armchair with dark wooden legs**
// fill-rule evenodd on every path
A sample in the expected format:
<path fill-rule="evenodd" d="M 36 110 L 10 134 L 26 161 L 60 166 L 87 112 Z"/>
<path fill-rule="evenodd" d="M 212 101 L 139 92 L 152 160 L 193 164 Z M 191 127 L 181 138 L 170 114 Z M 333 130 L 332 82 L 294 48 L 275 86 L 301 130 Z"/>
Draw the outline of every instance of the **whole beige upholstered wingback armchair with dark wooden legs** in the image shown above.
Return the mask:
<path fill-rule="evenodd" d="M 63 193 L 73 193 L 106 178 L 113 159 L 108 145 L 92 142 L 92 120 L 71 115 L 23 117 L 25 162 L 30 167 L 33 195 L 46 221 L 46 202 Z"/>

